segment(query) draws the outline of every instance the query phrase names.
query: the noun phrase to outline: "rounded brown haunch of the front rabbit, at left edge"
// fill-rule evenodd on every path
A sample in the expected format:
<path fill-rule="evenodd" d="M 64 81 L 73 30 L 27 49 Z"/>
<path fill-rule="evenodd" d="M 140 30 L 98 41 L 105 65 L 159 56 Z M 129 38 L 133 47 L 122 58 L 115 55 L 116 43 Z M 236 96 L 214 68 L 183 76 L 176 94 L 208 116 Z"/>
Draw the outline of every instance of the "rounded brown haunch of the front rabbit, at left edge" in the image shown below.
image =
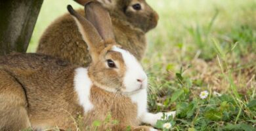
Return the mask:
<path fill-rule="evenodd" d="M 0 79 L 0 130 L 27 128 L 30 122 L 26 117 L 26 96 L 22 86 L 3 69 L 0 69 Z"/>

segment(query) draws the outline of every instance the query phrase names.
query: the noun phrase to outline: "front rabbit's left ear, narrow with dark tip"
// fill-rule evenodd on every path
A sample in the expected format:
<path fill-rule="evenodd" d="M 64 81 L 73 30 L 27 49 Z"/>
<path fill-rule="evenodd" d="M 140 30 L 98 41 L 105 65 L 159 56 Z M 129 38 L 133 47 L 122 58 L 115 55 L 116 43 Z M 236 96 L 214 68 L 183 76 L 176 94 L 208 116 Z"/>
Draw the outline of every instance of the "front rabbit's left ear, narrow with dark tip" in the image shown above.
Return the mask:
<path fill-rule="evenodd" d="M 100 37 L 93 24 L 77 13 L 71 5 L 68 5 L 68 11 L 74 16 L 77 27 L 83 40 L 87 43 L 93 61 L 98 59 L 98 55 L 104 48 L 102 37 Z"/>

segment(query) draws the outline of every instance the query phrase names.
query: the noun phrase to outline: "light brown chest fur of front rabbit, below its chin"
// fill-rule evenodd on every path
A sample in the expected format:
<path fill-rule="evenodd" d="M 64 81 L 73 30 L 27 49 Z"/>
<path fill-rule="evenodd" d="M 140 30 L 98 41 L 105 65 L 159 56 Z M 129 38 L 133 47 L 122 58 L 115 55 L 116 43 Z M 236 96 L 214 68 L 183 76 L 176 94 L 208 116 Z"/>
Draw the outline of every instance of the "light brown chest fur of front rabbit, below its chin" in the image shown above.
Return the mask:
<path fill-rule="evenodd" d="M 104 121 L 106 115 L 110 112 L 112 119 L 120 122 L 120 125 L 111 127 L 114 130 L 124 130 L 128 125 L 138 126 L 140 124 L 139 120 L 135 119 L 137 118 L 137 105 L 133 104 L 129 98 L 121 94 L 106 92 L 93 86 L 91 88 L 91 101 L 95 105 L 95 109 L 89 113 L 89 116 L 85 117 L 87 121 Z M 101 130 L 106 130 L 104 126 L 100 128 L 102 128 Z"/>

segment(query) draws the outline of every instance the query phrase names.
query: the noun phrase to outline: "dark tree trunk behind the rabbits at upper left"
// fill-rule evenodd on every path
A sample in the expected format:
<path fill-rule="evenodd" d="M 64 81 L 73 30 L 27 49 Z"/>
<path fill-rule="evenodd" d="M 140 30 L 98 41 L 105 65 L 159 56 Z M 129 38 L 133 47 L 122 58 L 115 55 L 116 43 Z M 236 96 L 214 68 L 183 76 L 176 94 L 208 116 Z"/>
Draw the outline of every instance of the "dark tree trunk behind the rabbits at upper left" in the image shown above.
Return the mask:
<path fill-rule="evenodd" d="M 0 0 L 0 55 L 26 52 L 43 0 Z"/>

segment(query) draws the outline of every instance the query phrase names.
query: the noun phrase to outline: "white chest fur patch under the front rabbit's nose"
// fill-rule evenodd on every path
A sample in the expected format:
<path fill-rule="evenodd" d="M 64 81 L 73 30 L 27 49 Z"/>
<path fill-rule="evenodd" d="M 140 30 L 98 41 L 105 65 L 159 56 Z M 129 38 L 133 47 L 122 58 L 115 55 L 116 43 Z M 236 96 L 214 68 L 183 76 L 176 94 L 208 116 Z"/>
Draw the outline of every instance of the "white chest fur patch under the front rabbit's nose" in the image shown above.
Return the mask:
<path fill-rule="evenodd" d="M 143 89 L 130 96 L 133 103 L 137 104 L 137 117 L 141 119 L 142 115 L 147 112 L 147 90 Z"/>

